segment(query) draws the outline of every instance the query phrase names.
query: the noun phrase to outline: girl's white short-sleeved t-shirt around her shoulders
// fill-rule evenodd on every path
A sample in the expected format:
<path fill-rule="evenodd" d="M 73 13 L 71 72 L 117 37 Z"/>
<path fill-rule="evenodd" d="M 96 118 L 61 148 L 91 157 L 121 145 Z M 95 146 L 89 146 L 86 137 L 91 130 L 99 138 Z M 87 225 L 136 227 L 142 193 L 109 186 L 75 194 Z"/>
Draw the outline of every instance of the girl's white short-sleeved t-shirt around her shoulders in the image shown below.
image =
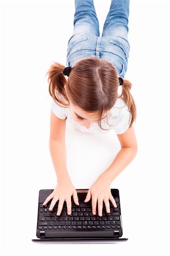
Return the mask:
<path fill-rule="evenodd" d="M 78 122 L 72 119 L 71 108 L 61 107 L 57 105 L 53 99 L 51 110 L 58 118 L 67 118 L 67 121 L 71 123 L 73 127 L 82 131 L 83 133 L 107 133 L 108 131 L 114 129 L 115 133 L 122 134 L 125 133 L 131 122 L 131 113 L 128 111 L 127 105 L 125 104 L 123 98 L 118 98 L 113 108 L 107 112 L 107 117 L 101 120 L 101 127 L 108 130 L 102 130 L 98 123 L 93 123 L 89 129 L 80 125 Z M 113 126 L 108 126 L 107 121 L 109 122 L 109 125 Z"/>

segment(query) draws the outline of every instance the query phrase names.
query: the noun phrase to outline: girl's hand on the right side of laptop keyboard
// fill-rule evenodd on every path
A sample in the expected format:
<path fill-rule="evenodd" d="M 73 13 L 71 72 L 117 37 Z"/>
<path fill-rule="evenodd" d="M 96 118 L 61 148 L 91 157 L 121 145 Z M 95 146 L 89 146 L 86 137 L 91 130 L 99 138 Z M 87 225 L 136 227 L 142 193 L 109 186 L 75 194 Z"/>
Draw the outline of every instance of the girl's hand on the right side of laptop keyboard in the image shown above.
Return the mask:
<path fill-rule="evenodd" d="M 111 189 L 108 181 L 102 175 L 98 177 L 98 179 L 93 183 L 93 185 L 89 188 L 88 193 L 86 195 L 85 203 L 90 200 L 92 196 L 92 212 L 96 214 L 96 207 L 98 201 L 98 215 L 102 216 L 102 208 L 103 201 L 106 205 L 106 212 L 110 213 L 110 204 L 109 200 L 113 204 L 115 208 L 117 208 L 117 204 L 113 196 L 111 195 Z"/>

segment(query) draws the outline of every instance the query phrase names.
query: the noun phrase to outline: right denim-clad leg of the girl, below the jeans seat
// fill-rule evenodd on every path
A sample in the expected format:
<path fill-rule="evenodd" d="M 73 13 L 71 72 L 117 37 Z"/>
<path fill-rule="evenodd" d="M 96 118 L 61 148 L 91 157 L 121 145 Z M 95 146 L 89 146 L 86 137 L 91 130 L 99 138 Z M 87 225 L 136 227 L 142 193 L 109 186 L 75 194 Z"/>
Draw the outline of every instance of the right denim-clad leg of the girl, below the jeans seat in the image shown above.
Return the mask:
<path fill-rule="evenodd" d="M 128 41 L 129 3 L 130 0 L 111 0 L 102 36 L 120 36 Z"/>

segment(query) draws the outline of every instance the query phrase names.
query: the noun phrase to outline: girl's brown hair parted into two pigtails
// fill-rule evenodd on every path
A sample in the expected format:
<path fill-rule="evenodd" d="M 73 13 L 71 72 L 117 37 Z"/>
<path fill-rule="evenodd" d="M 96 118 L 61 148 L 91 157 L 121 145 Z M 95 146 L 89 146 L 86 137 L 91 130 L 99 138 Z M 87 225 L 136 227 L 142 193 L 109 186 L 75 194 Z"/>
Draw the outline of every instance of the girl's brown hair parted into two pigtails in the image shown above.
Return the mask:
<path fill-rule="evenodd" d="M 83 58 L 73 65 L 68 80 L 63 74 L 64 68 L 64 65 L 54 62 L 46 73 L 49 94 L 57 105 L 69 108 L 69 98 L 85 112 L 98 112 L 98 125 L 102 129 L 103 111 L 113 108 L 117 98 L 122 97 L 131 112 L 130 127 L 132 126 L 136 119 L 136 105 L 130 93 L 132 84 L 124 79 L 122 93 L 118 97 L 118 72 L 109 61 L 98 57 Z"/>

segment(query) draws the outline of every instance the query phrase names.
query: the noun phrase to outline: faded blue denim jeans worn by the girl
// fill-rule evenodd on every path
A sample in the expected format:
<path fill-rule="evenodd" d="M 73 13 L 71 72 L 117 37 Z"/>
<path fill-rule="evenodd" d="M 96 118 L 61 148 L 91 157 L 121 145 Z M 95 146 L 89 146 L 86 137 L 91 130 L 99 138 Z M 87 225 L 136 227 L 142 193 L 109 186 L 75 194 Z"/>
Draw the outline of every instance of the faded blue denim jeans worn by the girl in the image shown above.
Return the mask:
<path fill-rule="evenodd" d="M 74 0 L 74 30 L 68 40 L 67 67 L 72 67 L 84 57 L 96 56 L 108 60 L 117 69 L 118 75 L 125 77 L 130 52 L 127 38 L 129 2 L 111 0 L 100 37 L 93 0 Z"/>

